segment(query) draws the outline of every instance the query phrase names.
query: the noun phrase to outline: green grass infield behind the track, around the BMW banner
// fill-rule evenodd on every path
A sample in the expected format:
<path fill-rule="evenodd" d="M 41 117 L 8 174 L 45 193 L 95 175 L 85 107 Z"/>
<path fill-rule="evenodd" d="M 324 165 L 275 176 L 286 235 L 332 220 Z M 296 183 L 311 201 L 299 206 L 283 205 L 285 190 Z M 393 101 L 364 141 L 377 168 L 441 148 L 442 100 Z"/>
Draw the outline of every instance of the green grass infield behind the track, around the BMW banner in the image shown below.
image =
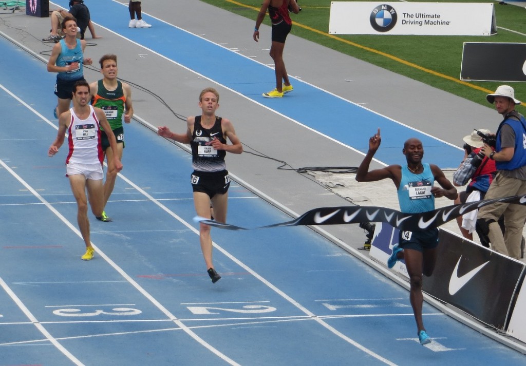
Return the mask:
<path fill-rule="evenodd" d="M 201 1 L 254 21 L 261 7 L 261 0 Z M 489 0 L 463 2 L 494 3 L 498 34 L 492 36 L 329 35 L 331 0 L 299 0 L 298 4 L 302 11 L 297 15 L 291 14 L 294 22 L 292 34 L 487 106 L 485 95 L 504 83 L 461 81 L 463 43 L 526 42 L 525 36 L 499 28 L 526 33 L 526 9 L 514 5 L 499 5 Z M 265 17 L 264 23 L 270 25 L 268 16 Z M 526 100 L 526 83 L 506 84 L 515 89 L 515 97 Z M 526 112 L 523 106 L 518 109 L 521 113 Z"/>

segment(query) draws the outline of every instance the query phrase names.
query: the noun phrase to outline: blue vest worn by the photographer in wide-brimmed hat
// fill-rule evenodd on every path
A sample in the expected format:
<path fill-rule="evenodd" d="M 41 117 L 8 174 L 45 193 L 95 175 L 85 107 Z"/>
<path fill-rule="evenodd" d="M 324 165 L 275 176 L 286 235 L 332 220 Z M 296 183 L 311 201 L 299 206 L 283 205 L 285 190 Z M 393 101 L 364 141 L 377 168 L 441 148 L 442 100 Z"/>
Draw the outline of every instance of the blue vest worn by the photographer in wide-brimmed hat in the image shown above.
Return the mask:
<path fill-rule="evenodd" d="M 514 110 L 508 113 L 497 129 L 495 151 L 502 150 L 500 130 L 503 125 L 509 125 L 513 128 L 515 133 L 515 151 L 510 161 L 496 161 L 495 163 L 498 170 L 515 170 L 526 165 L 526 120 L 524 116 Z"/>

